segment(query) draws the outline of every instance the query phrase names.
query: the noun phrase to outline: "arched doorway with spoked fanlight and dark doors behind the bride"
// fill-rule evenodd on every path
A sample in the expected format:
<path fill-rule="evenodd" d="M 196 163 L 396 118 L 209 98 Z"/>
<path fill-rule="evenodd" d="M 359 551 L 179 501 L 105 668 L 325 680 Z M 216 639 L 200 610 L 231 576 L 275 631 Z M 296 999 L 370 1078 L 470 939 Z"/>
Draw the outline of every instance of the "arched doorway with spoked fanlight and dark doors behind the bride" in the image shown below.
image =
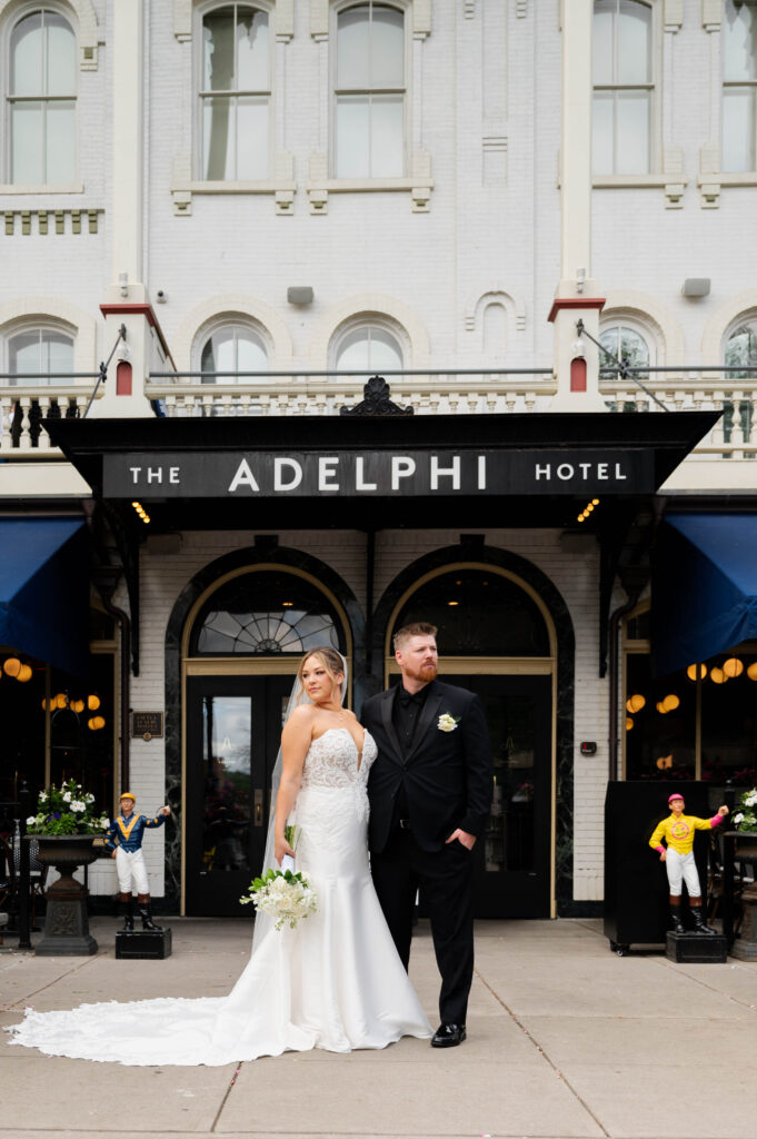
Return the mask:
<path fill-rule="evenodd" d="M 244 913 L 260 871 L 271 771 L 303 654 L 332 645 L 349 661 L 346 614 L 315 575 L 239 566 L 195 600 L 182 637 L 183 911 Z"/>

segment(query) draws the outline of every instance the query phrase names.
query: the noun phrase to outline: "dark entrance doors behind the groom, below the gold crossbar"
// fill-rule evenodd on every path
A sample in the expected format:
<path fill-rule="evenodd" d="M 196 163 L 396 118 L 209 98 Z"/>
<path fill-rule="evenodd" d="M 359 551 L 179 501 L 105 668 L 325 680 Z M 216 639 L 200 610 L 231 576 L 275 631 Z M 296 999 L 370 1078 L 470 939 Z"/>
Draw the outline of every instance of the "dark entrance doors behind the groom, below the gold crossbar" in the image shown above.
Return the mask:
<path fill-rule="evenodd" d="M 476 844 L 476 917 L 548 918 L 552 679 L 454 675 L 446 669 L 439 679 L 480 696 L 492 739 L 494 797 Z"/>

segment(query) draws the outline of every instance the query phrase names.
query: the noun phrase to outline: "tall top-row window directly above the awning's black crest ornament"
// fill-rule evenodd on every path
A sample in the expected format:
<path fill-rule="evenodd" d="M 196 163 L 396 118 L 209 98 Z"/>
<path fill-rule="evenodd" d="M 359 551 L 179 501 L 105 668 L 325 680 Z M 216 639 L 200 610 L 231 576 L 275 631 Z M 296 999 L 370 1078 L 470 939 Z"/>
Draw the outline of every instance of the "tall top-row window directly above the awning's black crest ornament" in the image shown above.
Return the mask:
<path fill-rule="evenodd" d="M 405 172 L 405 14 L 356 3 L 337 14 L 335 175 Z"/>

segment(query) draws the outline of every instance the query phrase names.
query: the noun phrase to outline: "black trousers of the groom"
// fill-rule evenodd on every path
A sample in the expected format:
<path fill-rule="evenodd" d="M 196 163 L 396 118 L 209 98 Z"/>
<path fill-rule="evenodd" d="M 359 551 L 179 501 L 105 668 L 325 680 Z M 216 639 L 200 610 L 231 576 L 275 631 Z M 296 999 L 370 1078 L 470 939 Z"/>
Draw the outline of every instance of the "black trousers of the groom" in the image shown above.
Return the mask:
<path fill-rule="evenodd" d="M 405 969 L 420 887 L 442 974 L 439 1017 L 445 1024 L 464 1024 L 474 976 L 472 853 L 456 839 L 441 851 L 421 850 L 412 831 L 395 827 L 384 850 L 371 853 L 371 872 Z"/>

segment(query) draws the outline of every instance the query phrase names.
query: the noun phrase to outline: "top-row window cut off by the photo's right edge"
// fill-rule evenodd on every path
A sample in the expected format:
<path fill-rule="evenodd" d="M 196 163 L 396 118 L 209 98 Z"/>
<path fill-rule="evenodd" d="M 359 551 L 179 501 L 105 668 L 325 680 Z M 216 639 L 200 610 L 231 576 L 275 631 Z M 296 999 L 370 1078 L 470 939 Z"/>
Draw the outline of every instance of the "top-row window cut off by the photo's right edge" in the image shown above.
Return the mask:
<path fill-rule="evenodd" d="M 757 8 L 725 0 L 723 17 L 723 170 L 757 166 Z"/>

